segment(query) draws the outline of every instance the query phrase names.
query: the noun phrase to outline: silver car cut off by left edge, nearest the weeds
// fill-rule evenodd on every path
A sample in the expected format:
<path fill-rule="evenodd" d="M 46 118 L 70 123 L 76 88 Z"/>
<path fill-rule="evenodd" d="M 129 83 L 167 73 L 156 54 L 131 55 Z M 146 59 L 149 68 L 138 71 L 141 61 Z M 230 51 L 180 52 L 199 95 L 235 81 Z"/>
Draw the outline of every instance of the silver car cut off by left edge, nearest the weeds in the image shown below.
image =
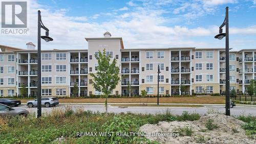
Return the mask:
<path fill-rule="evenodd" d="M 0 116 L 27 116 L 28 114 L 29 111 L 27 111 L 26 109 L 12 108 L 7 105 L 0 104 Z"/>

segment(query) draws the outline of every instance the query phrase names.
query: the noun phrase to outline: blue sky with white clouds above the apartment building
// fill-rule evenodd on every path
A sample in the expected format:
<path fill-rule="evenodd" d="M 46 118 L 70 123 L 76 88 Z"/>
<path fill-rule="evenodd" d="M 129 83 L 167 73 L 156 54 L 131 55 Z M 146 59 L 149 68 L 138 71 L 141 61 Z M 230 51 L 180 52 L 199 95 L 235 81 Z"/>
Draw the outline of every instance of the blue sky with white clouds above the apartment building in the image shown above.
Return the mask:
<path fill-rule="evenodd" d="M 37 10 L 54 41 L 42 49 L 87 49 L 85 37 L 122 37 L 124 47 L 224 47 L 214 36 L 229 7 L 230 47 L 256 49 L 256 0 L 30 1 L 30 35 L 0 35 L 0 44 L 36 43 Z"/>

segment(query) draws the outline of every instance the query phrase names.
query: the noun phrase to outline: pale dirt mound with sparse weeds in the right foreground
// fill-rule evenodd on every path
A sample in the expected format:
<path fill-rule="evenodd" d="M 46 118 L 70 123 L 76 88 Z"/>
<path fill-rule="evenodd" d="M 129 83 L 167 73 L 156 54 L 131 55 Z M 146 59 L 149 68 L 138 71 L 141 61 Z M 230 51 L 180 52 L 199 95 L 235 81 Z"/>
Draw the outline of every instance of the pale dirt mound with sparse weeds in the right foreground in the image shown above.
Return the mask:
<path fill-rule="evenodd" d="M 241 128 L 243 124 L 244 122 L 231 116 L 208 114 L 194 122 L 146 124 L 140 127 L 140 131 L 146 132 L 148 139 L 160 143 L 256 143 L 255 139 L 249 139 L 245 135 L 245 130 Z M 175 137 L 177 133 L 180 135 Z"/>

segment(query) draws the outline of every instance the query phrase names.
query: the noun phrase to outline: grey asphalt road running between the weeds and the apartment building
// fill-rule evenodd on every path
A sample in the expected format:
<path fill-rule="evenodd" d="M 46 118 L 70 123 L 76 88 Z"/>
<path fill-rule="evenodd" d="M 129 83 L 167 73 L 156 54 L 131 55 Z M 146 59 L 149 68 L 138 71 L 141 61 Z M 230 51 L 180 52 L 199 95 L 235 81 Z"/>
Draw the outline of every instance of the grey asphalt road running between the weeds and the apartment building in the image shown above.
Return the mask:
<path fill-rule="evenodd" d="M 72 107 L 73 110 L 76 110 L 78 108 L 82 108 L 84 110 L 91 110 L 91 111 L 99 111 L 99 112 L 104 112 L 105 108 L 104 105 L 58 105 L 56 107 L 42 107 L 42 113 L 50 113 L 53 109 L 61 109 L 65 110 L 66 107 Z M 33 113 L 37 111 L 36 107 L 29 108 L 26 105 L 21 105 L 16 108 L 24 108 L 27 109 L 30 113 Z M 109 105 L 109 112 L 115 112 L 115 113 L 120 113 L 120 112 L 133 112 L 133 113 L 162 113 L 165 112 L 166 110 L 170 110 L 174 114 L 182 114 L 183 111 L 188 111 L 189 113 L 199 113 L 199 114 L 205 114 L 208 111 L 218 111 L 221 113 L 225 113 L 225 107 L 224 106 L 203 106 L 203 107 L 153 107 L 153 106 L 131 106 L 131 107 L 118 107 L 118 106 L 111 106 Z M 231 115 L 241 115 L 241 114 L 252 114 L 256 115 L 256 106 L 236 106 L 230 109 Z"/>

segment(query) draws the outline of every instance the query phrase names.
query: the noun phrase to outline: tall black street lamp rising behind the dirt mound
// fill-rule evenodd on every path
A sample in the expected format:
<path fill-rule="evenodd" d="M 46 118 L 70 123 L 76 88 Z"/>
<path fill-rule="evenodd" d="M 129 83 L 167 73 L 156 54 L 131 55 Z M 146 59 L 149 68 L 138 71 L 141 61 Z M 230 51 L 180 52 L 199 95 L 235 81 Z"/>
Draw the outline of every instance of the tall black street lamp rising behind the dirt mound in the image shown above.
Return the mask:
<path fill-rule="evenodd" d="M 226 7 L 226 16 L 224 22 L 220 26 L 219 34 L 215 38 L 222 39 L 226 37 L 226 115 L 230 115 L 230 104 L 229 104 L 229 35 L 228 35 L 228 7 Z M 222 33 L 222 28 L 226 26 L 226 33 Z"/>

